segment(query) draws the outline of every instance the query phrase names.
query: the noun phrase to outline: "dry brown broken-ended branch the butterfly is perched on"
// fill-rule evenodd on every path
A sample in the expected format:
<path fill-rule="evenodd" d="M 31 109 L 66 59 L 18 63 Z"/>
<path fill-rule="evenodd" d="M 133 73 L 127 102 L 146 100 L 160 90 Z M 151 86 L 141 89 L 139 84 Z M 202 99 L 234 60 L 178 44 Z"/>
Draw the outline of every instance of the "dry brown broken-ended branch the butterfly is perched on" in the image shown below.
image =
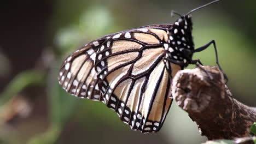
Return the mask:
<path fill-rule="evenodd" d="M 202 69 L 181 70 L 174 76 L 172 96 L 179 107 L 209 140 L 248 136 L 249 127 L 256 122 L 256 109 L 232 97 L 217 67 Z"/>

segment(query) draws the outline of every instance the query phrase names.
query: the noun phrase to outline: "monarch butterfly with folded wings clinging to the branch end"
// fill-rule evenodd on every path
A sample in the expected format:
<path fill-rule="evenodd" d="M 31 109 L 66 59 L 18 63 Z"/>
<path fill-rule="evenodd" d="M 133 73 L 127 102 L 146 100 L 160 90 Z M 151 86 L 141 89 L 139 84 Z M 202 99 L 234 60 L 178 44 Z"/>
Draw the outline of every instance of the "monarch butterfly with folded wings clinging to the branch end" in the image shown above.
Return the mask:
<path fill-rule="evenodd" d="M 194 52 L 211 44 L 216 49 L 214 40 L 194 49 L 191 13 L 218 1 L 178 14 L 173 25 L 149 25 L 91 41 L 63 62 L 60 85 L 76 97 L 102 101 L 132 130 L 159 131 L 173 100 L 172 77 L 188 64 L 201 63 L 192 59 Z"/>

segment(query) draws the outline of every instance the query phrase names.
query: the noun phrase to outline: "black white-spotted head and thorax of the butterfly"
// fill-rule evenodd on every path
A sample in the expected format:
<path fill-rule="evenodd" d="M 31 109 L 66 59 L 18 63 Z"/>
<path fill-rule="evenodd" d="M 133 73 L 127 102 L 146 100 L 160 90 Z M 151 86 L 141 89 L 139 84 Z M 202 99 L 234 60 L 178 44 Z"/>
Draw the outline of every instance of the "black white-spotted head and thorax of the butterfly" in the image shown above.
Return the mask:
<path fill-rule="evenodd" d="M 191 62 L 194 51 L 192 25 L 191 15 L 184 15 L 168 30 L 167 57 L 184 63 L 185 67 Z"/>

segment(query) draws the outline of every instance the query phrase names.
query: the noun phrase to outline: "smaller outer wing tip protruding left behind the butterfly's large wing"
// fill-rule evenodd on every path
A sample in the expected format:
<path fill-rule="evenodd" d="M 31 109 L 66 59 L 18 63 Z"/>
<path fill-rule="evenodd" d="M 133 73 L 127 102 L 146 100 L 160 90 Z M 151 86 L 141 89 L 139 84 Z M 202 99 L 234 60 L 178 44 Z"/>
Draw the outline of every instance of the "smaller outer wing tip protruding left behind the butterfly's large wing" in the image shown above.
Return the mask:
<path fill-rule="evenodd" d="M 65 59 L 60 69 L 59 83 L 68 93 L 79 98 L 101 100 L 94 64 L 96 52 L 103 41 L 91 41 Z"/>

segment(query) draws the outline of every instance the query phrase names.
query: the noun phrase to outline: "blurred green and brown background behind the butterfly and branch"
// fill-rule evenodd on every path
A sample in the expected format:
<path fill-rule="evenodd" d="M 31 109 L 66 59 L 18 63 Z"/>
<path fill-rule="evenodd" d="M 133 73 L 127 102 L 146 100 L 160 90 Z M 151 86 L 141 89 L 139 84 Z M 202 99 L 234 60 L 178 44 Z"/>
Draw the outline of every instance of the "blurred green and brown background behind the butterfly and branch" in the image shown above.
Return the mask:
<path fill-rule="evenodd" d="M 196 124 L 174 102 L 159 133 L 130 130 L 104 104 L 67 94 L 63 59 L 106 34 L 173 23 L 203 0 L 3 1 L 0 21 L 0 143 L 201 143 Z M 255 106 L 256 1 L 222 1 L 193 13 L 196 47 L 216 40 L 234 97 Z M 216 65 L 213 47 L 196 53 Z M 194 68 L 192 65 L 189 68 Z"/>

